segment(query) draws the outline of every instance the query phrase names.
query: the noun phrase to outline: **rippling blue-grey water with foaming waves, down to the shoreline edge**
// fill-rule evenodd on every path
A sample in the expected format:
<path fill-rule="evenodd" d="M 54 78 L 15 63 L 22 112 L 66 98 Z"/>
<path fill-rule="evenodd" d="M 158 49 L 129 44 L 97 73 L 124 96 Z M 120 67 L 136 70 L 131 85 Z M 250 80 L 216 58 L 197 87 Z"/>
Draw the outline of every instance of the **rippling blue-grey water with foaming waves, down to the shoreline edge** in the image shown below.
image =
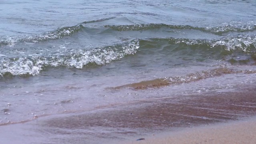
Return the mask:
<path fill-rule="evenodd" d="M 1 0 L 0 13 L 0 124 L 256 82 L 254 0 Z"/>

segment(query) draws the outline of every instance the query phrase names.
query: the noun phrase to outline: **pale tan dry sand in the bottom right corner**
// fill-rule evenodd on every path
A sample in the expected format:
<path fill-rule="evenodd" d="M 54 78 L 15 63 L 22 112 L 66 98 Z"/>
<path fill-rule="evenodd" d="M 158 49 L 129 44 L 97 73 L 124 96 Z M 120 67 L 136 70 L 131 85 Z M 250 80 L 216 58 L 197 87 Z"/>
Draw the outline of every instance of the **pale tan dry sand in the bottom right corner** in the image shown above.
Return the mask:
<path fill-rule="evenodd" d="M 123 144 L 256 144 L 256 118 L 157 134 Z"/>

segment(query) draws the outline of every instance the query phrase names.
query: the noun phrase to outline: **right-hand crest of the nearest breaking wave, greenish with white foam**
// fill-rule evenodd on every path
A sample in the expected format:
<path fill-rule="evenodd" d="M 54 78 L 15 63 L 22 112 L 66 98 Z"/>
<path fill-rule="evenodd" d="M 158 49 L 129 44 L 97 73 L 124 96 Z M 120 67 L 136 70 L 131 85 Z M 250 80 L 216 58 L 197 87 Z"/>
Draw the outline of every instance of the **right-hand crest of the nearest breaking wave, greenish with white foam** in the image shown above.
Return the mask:
<path fill-rule="evenodd" d="M 169 45 L 177 45 L 177 51 L 187 49 L 188 47 L 207 51 L 207 50 L 242 50 L 244 52 L 255 52 L 256 35 L 239 35 L 225 36 L 216 39 L 189 39 L 189 38 L 150 38 L 141 40 L 142 45 L 159 45 L 159 43 L 168 43 Z"/>

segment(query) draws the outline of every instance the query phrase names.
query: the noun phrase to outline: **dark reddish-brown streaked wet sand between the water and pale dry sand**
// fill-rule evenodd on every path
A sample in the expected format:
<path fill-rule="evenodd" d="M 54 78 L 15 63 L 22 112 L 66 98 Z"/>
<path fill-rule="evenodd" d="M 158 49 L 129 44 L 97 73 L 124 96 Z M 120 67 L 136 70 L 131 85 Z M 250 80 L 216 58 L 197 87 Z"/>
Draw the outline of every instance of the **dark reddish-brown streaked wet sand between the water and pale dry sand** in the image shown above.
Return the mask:
<path fill-rule="evenodd" d="M 101 110 L 60 116 L 42 122 L 53 129 L 91 138 L 122 139 L 158 130 L 237 120 L 256 115 L 256 89 L 154 98 Z M 48 129 L 49 128 L 49 129 Z M 74 132 L 74 133 L 73 133 Z M 89 140 L 90 138 L 86 138 Z M 85 140 L 85 141 L 86 141 Z"/>

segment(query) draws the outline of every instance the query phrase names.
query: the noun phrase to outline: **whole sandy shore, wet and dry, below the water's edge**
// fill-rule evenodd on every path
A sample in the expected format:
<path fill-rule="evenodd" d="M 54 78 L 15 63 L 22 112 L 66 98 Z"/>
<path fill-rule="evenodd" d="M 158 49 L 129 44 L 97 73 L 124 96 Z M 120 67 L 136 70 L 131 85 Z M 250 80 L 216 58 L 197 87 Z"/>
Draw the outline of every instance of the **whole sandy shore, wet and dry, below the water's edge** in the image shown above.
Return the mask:
<path fill-rule="evenodd" d="M 222 126 L 208 127 L 208 125 L 246 120 L 248 117 L 256 116 L 255 94 L 256 88 L 251 85 L 250 88 L 238 88 L 233 92 L 148 98 L 102 106 L 84 112 L 39 116 L 30 122 L 0 126 L 2 134 L 0 139 L 5 144 L 16 144 L 12 141 L 14 136 L 16 139 L 23 139 L 24 144 L 34 141 L 47 144 L 101 144 L 140 142 L 136 140 L 148 139 L 152 134 L 158 136 L 163 132 L 178 132 L 176 135 L 180 137 L 167 134 L 164 138 L 157 137 L 155 139 L 157 142 L 151 138 L 145 142 L 169 143 L 169 140 L 174 138 L 177 138 L 174 143 L 203 143 L 202 140 L 210 140 L 210 138 L 220 141 L 207 142 L 222 143 L 229 142 L 232 137 L 234 140 L 245 140 L 244 137 L 251 140 L 251 134 L 255 130 L 255 126 L 251 125 L 255 121 L 249 125 L 239 124 L 241 128 L 232 124 L 227 124 L 226 129 Z M 207 127 L 203 131 L 196 128 L 205 125 Z M 184 128 L 192 129 L 179 133 Z"/>

